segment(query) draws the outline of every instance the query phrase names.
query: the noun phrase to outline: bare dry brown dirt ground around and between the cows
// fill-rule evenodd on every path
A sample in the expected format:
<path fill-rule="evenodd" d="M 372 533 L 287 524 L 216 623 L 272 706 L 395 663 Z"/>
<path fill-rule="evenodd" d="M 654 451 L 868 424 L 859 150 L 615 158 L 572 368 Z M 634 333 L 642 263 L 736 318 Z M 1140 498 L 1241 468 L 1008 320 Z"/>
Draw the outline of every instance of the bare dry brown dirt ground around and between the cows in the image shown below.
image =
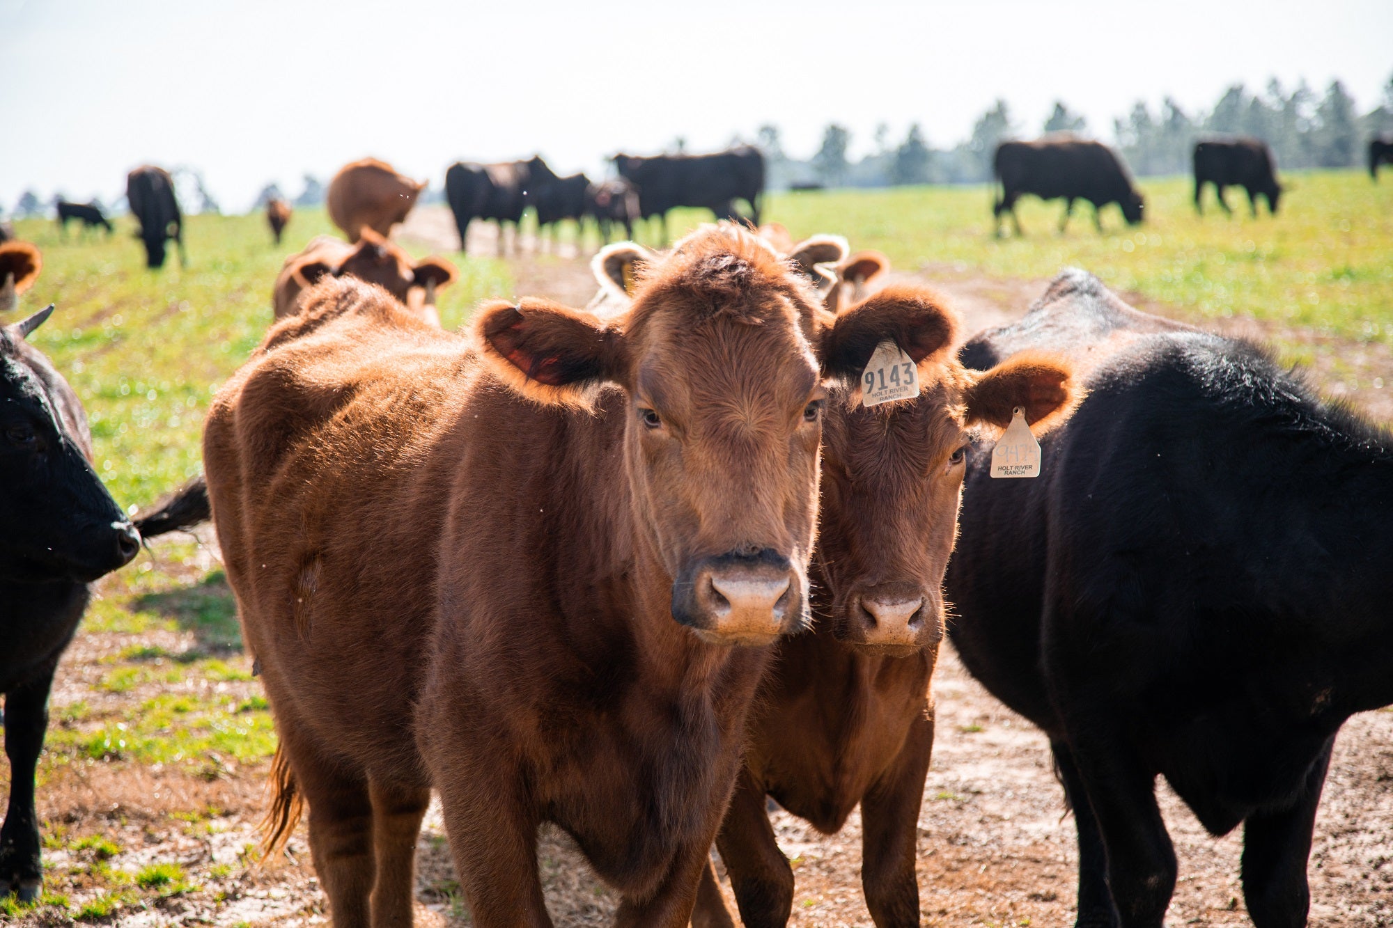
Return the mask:
<path fill-rule="evenodd" d="M 422 210 L 418 210 L 422 212 Z M 428 213 L 429 215 L 429 213 Z M 411 233 L 418 229 L 408 230 Z M 440 237 L 418 235 L 429 247 L 453 249 Z M 492 254 L 481 238 L 479 251 Z M 527 244 L 527 242 L 524 242 Z M 471 234 L 471 251 L 475 251 Z M 535 293 L 582 305 L 593 291 L 588 263 L 574 258 L 513 259 L 510 270 L 520 293 Z M 944 291 L 965 316 L 964 332 L 1017 318 L 1045 288 L 1043 280 L 989 280 L 956 268 L 926 266 L 910 276 Z M 1135 294 L 1126 298 L 1152 312 L 1184 318 Z M 1216 326 L 1209 326 L 1216 327 Z M 1386 351 L 1329 343 L 1301 332 L 1273 332 L 1244 320 L 1217 326 L 1229 334 L 1277 334 L 1314 346 L 1312 379 L 1328 393 L 1346 389 L 1376 418 L 1393 418 L 1393 362 Z M 1322 362 L 1321 358 L 1330 355 Z M 1387 386 L 1372 387 L 1373 378 Z M 216 542 L 201 532 L 203 564 L 176 566 L 153 555 L 160 570 L 187 573 L 189 582 L 216 562 Z M 143 635 L 79 635 L 64 658 L 53 698 L 54 725 L 78 701 L 107 709 L 135 705 L 148 693 L 96 693 L 89 684 L 103 658 L 132 647 L 181 654 L 196 647 L 189 633 Z M 227 663 L 248 670 L 245 655 Z M 150 686 L 150 684 L 145 684 Z M 259 694 L 251 680 L 194 681 L 227 699 Z M 220 688 L 219 688 L 220 687 Z M 1077 853 L 1074 823 L 1064 814 L 1063 793 L 1050 771 L 1046 740 L 979 687 L 944 649 L 935 674 L 937 736 L 933 764 L 919 815 L 918 875 L 925 925 L 1068 925 L 1074 920 Z M 96 706 L 102 708 L 102 706 Z M 152 863 L 174 863 L 182 878 L 157 893 L 131 896 L 109 915 L 92 918 L 123 927 L 299 925 L 327 921 L 325 899 L 309 863 L 305 828 L 273 865 L 256 865 L 256 822 L 265 808 L 266 762 L 240 765 L 206 757 L 195 765 L 141 766 L 130 762 L 74 762 L 56 768 L 40 784 L 39 812 L 45 835 L 47 888 L 65 893 L 74 907 L 102 895 L 102 868 L 137 872 Z M 0 791 L 7 791 L 0 780 Z M 1169 925 L 1250 924 L 1238 885 L 1241 835 L 1208 836 L 1194 817 L 1162 784 L 1162 807 L 1180 858 L 1180 882 Z M 773 812 L 779 843 L 793 861 L 797 886 L 791 925 L 800 928 L 871 925 L 859 886 L 859 818 L 853 815 L 837 835 L 823 836 L 783 811 Z M 102 836 L 81 847 L 81 837 Z M 95 844 L 86 842 L 86 844 Z M 439 808 L 432 805 L 418 844 L 417 922 L 430 928 L 469 924 L 460 899 Z M 568 839 L 543 829 L 539 850 L 547 906 L 557 925 L 609 924 L 616 899 L 591 874 Z M 719 867 L 717 867 L 719 871 Z M 1393 925 L 1393 712 L 1355 716 L 1336 745 L 1316 821 L 1309 865 L 1312 925 Z M 729 882 L 727 906 L 734 913 Z M 0 921 L 6 915 L 0 914 Z M 22 925 L 71 924 L 59 907 L 40 907 L 8 921 Z"/>

